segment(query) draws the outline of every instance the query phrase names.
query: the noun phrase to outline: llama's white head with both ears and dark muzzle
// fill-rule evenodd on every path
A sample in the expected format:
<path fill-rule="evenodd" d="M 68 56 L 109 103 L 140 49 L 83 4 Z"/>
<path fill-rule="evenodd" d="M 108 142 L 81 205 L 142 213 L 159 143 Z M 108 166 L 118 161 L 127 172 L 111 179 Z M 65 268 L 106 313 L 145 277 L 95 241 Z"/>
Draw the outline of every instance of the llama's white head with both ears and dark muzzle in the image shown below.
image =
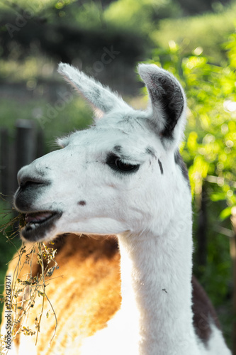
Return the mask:
<path fill-rule="evenodd" d="M 178 150 L 186 119 L 183 89 L 156 65 L 141 64 L 138 71 L 149 92 L 146 111 L 60 64 L 59 72 L 99 119 L 89 129 L 60 138 L 62 149 L 19 171 L 14 204 L 26 214 L 23 239 L 40 241 L 67 232 L 162 233 L 175 209 L 191 200 Z"/>

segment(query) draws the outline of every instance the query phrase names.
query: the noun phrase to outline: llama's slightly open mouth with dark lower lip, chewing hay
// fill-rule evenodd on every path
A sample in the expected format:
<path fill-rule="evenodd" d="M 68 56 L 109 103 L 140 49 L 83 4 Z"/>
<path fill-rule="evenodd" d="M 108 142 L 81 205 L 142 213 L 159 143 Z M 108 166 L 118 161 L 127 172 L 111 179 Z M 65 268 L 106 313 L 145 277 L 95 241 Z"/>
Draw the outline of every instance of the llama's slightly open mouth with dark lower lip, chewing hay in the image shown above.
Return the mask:
<path fill-rule="evenodd" d="M 28 241 L 42 241 L 61 216 L 62 212 L 54 211 L 26 213 L 26 225 L 21 229 L 21 236 Z"/>

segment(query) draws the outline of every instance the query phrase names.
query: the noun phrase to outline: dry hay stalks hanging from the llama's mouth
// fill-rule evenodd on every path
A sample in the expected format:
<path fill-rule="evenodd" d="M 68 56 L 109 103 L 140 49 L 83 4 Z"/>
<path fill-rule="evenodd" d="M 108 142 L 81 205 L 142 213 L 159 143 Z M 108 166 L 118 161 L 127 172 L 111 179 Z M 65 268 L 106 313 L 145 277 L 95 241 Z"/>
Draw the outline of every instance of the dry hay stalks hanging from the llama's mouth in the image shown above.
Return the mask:
<path fill-rule="evenodd" d="M 4 217 L 11 214 L 11 212 L 5 213 Z M 16 227 L 16 225 L 18 225 L 18 227 Z M 16 339 L 20 333 L 23 333 L 26 336 L 32 336 L 35 334 L 36 345 L 38 334 L 40 332 L 40 322 L 45 307 L 45 299 L 47 299 L 51 307 L 50 310 L 47 310 L 46 316 L 48 317 L 51 312 L 55 317 L 55 329 L 52 334 L 52 339 L 55 336 L 57 329 L 57 316 L 49 298 L 47 297 L 46 290 L 53 272 L 58 268 L 57 262 L 55 261 L 57 249 L 54 249 L 53 246 L 47 246 L 43 242 L 30 244 L 30 246 L 22 243 L 21 248 L 17 249 L 13 239 L 18 236 L 19 231 L 25 225 L 25 215 L 18 214 L 17 217 L 14 217 L 0 228 L 0 234 L 3 234 L 6 237 L 6 242 L 12 244 L 17 251 L 14 256 L 16 268 L 14 269 L 9 282 L 7 282 L 8 278 L 6 275 L 5 290 L 4 294 L 0 295 L 0 300 L 5 303 L 4 312 L 9 312 L 9 315 L 11 315 L 11 342 Z M 51 241 L 50 244 L 53 245 L 54 242 Z M 40 270 L 35 276 L 33 276 L 32 271 L 33 258 L 37 258 L 37 264 Z M 29 272 L 21 275 L 21 271 L 26 267 L 26 264 L 29 268 Z M 35 325 L 34 329 L 32 329 L 32 327 L 30 328 L 27 326 L 27 320 L 30 310 L 32 310 L 35 305 L 36 298 L 40 299 L 42 307 L 38 317 L 35 317 Z M 22 326 L 21 324 L 24 325 Z M 1 329 L 1 332 L 3 332 L 3 329 L 4 328 Z M 8 354 L 9 351 L 7 348 L 6 334 L 7 331 L 5 334 L 0 334 L 0 355 Z"/>

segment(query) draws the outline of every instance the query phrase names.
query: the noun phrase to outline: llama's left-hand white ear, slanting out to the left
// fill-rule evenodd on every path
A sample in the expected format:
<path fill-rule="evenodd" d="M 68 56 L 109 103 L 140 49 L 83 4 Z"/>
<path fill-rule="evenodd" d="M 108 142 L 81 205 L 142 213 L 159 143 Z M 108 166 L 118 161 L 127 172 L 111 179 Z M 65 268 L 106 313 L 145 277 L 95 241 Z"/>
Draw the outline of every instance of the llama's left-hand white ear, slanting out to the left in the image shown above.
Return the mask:
<path fill-rule="evenodd" d="M 84 72 L 72 67 L 72 65 L 60 63 L 58 72 L 91 104 L 96 116 L 99 118 L 115 107 L 125 104 L 123 99 L 111 92 L 108 87 L 103 87 L 100 82 L 88 77 Z"/>

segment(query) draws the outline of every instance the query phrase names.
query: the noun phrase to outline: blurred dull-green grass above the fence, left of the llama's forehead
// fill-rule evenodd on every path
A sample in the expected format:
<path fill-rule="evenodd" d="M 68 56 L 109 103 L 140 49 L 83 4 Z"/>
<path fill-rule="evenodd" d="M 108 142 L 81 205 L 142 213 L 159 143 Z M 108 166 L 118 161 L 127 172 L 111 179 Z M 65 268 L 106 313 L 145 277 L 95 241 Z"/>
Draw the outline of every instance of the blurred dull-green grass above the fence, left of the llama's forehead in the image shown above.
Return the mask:
<path fill-rule="evenodd" d="M 12 105 L 12 100 L 0 99 L 0 126 L 6 126 L 7 123 L 13 140 L 16 119 L 34 119 L 35 125 L 43 131 L 47 146 L 52 148 L 55 138 L 64 136 L 73 129 L 84 129 L 92 122 L 91 110 L 76 94 L 69 103 L 62 102 L 62 109 L 57 106 L 58 100 L 60 98 L 48 102 L 41 97 L 30 101 L 18 101 L 17 104 Z"/>

